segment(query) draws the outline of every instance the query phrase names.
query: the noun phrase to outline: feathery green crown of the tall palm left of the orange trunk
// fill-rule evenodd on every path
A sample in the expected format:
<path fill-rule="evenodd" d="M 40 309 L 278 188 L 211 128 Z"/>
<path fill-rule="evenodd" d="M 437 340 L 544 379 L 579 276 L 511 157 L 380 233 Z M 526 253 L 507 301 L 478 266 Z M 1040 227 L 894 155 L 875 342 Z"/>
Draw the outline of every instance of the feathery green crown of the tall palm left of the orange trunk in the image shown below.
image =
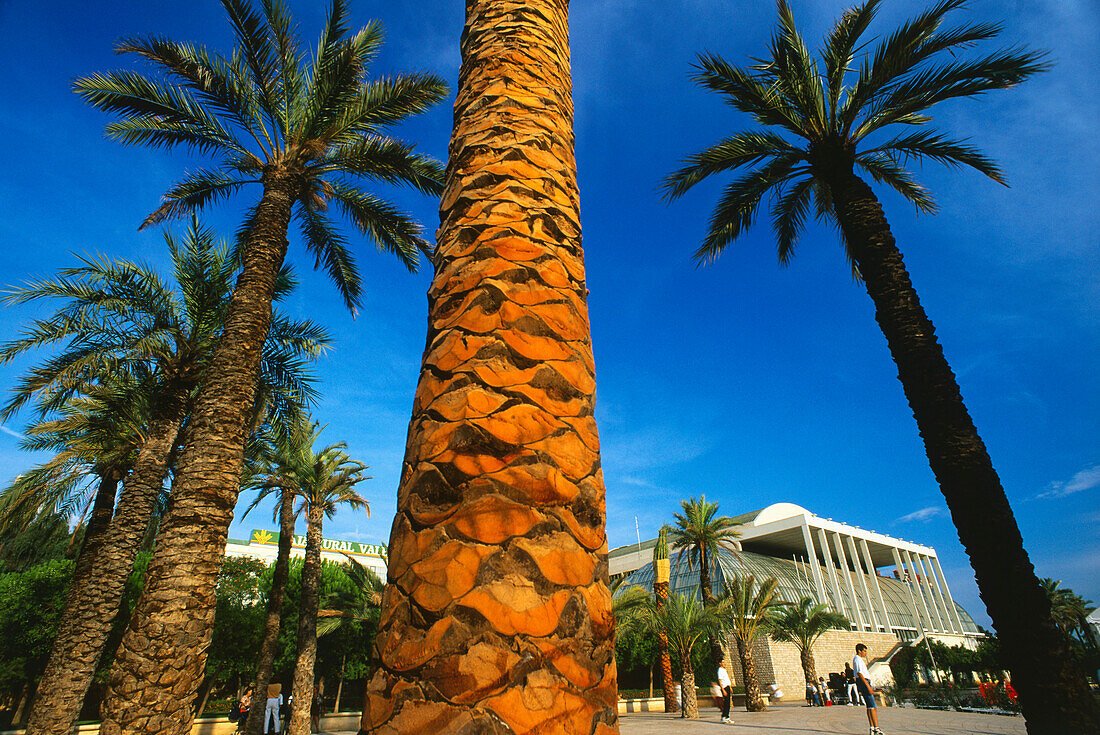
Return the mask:
<path fill-rule="evenodd" d="M 110 72 L 77 79 L 90 105 L 117 113 L 107 136 L 127 145 L 184 146 L 219 164 L 188 173 L 142 227 L 194 212 L 248 184 L 293 179 L 292 197 L 306 248 L 340 289 L 348 308 L 361 285 L 348 243 L 327 213 L 330 202 L 409 268 L 427 245 L 420 227 L 392 204 L 359 188 L 354 178 L 441 190 L 442 167 L 384 131 L 426 110 L 447 92 L 428 74 L 369 81 L 383 34 L 372 23 L 350 33 L 343 0 L 332 0 L 315 58 L 295 36 L 287 8 L 264 0 L 222 0 L 237 35 L 231 56 L 160 36 L 131 37 L 117 51 L 136 54 L 158 72 Z M 241 228 L 254 224 L 253 209 Z"/>

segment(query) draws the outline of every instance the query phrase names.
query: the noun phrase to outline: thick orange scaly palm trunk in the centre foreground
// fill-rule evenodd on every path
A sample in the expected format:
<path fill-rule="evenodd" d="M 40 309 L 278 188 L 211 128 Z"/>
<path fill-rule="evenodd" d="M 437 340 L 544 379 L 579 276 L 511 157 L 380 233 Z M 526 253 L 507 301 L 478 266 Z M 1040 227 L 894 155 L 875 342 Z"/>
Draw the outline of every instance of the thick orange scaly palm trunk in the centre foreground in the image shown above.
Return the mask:
<path fill-rule="evenodd" d="M 566 0 L 468 0 L 362 732 L 617 732 Z"/>

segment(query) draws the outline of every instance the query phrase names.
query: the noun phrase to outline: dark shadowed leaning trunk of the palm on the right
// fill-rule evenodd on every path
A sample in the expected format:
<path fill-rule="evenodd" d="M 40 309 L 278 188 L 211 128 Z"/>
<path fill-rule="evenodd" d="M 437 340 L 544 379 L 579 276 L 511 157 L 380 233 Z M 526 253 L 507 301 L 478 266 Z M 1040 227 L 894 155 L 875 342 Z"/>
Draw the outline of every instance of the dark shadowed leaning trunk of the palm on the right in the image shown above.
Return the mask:
<path fill-rule="evenodd" d="M 849 172 L 829 182 L 848 250 L 970 557 L 1031 735 L 1100 731 L 1100 711 L 1050 617 L 1015 516 L 910 282 L 878 199 Z"/>

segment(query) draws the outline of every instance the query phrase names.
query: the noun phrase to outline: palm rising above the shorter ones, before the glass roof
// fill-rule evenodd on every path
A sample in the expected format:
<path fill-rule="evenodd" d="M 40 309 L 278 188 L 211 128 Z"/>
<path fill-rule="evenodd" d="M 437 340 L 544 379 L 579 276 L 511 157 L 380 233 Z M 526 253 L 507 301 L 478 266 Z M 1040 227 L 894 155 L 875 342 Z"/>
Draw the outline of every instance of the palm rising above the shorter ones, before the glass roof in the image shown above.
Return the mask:
<path fill-rule="evenodd" d="M 676 557 L 676 566 L 686 556 L 688 568 L 698 567 L 698 592 L 703 604 L 707 607 L 714 605 L 714 588 L 711 582 L 711 562 L 717 560 L 718 552 L 726 549 L 733 552 L 738 550 L 737 538 L 741 533 L 737 530 L 737 522 L 729 516 L 719 516 L 718 504 L 708 503 L 706 495 L 680 501 L 683 507 L 683 515 L 673 515 L 676 525 L 670 529 L 669 540 L 681 551 Z M 729 665 L 726 659 L 726 646 L 719 643 L 718 638 L 711 637 L 711 658 L 714 665 L 725 662 L 728 670 Z"/>

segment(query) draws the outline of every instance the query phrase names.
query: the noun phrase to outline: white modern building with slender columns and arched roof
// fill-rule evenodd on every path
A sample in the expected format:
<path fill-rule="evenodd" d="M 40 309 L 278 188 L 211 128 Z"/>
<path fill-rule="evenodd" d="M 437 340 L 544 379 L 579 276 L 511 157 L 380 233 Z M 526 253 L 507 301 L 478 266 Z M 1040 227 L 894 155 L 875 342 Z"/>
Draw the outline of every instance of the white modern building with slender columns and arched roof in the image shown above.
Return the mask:
<path fill-rule="evenodd" d="M 948 646 L 975 648 L 981 633 L 952 596 L 936 550 L 928 546 L 821 518 L 791 503 L 777 503 L 735 518 L 740 523 L 736 552 L 723 550 L 710 562 L 715 594 L 725 580 L 752 574 L 776 578 L 777 597 L 809 596 L 842 613 L 850 630 L 829 633 L 815 648 L 820 672 L 839 671 L 856 643 L 866 643 L 877 683 L 889 678 L 886 660 L 923 636 Z M 625 577 L 622 588 L 652 589 L 656 539 L 613 549 L 609 572 Z M 698 594 L 698 570 L 673 549 L 673 594 Z M 761 639 L 756 660 L 761 684 L 770 676 L 788 694 L 802 695 L 802 668 L 790 644 Z M 737 663 L 735 662 L 735 668 Z"/>

